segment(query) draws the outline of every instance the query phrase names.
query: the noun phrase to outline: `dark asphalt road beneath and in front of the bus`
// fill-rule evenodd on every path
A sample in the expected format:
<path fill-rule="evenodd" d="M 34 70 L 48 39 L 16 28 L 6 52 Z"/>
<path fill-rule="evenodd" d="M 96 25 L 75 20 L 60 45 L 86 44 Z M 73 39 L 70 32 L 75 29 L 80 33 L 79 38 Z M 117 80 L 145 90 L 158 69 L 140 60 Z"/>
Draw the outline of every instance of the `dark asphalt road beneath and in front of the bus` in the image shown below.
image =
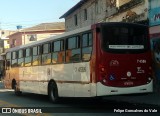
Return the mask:
<path fill-rule="evenodd" d="M 148 106 L 145 104 L 134 104 L 127 102 L 117 102 L 108 100 L 106 98 L 102 100 L 91 98 L 61 98 L 60 102 L 53 104 L 49 102 L 48 96 L 38 95 L 31 93 L 23 93 L 22 96 L 16 96 L 13 90 L 4 89 L 2 82 L 0 82 L 0 108 L 11 108 L 12 115 L 19 112 L 18 115 L 76 115 L 76 116 L 119 116 L 119 115 L 148 115 L 150 112 L 156 110 L 156 106 Z M 36 109 L 31 114 L 27 114 L 28 109 Z M 148 113 L 144 111 L 148 110 Z M 4 109 L 3 109 L 4 110 Z M 131 112 L 130 112 L 131 111 Z M 142 112 L 143 111 L 143 112 Z M 22 113 L 23 112 L 23 113 Z M 41 112 L 43 114 L 41 114 Z M 17 114 L 17 113 L 16 113 Z M 1 114 L 0 114 L 1 115 Z M 6 115 L 6 114 L 5 114 Z M 158 113 L 154 113 L 158 115 Z"/>

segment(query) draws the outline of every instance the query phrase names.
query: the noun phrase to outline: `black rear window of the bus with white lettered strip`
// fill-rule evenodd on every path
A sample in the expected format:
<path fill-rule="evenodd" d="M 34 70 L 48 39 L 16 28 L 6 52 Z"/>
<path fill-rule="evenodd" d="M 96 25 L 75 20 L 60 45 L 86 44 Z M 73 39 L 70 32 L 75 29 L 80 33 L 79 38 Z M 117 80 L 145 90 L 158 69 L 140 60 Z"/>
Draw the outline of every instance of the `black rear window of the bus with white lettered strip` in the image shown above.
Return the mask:
<path fill-rule="evenodd" d="M 146 26 L 102 26 L 102 46 L 109 52 L 144 52 L 148 49 Z"/>

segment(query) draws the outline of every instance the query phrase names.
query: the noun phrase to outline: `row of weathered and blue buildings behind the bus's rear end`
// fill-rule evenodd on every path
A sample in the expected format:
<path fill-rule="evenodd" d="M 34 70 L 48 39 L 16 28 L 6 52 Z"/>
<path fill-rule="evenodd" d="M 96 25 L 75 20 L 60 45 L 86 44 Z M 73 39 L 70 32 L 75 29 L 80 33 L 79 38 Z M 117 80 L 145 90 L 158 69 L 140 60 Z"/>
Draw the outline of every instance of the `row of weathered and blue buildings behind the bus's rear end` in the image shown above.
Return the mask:
<path fill-rule="evenodd" d="M 66 31 L 98 22 L 148 25 L 155 85 L 160 88 L 160 0 L 81 0 L 60 18 L 65 18 Z"/>

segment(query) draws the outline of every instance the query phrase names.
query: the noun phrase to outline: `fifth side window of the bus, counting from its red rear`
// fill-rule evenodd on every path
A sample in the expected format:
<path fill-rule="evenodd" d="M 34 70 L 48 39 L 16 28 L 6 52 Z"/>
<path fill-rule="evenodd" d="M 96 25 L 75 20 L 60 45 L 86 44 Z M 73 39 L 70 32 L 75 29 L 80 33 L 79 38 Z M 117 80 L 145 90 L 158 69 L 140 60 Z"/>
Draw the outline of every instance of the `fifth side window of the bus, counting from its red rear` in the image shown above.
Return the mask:
<path fill-rule="evenodd" d="M 40 56 L 40 46 L 35 46 L 32 48 L 32 65 L 37 66 L 41 63 L 41 56 Z"/>

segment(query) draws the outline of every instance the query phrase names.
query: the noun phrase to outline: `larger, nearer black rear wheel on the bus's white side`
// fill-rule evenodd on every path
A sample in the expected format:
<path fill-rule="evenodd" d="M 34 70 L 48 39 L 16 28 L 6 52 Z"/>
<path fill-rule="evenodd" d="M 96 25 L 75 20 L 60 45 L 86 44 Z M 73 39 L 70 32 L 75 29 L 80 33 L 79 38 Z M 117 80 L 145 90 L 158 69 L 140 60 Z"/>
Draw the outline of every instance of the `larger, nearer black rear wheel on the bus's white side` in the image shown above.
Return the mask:
<path fill-rule="evenodd" d="M 55 83 L 51 82 L 48 88 L 48 96 L 51 102 L 57 103 L 58 101 L 58 89 Z"/>

